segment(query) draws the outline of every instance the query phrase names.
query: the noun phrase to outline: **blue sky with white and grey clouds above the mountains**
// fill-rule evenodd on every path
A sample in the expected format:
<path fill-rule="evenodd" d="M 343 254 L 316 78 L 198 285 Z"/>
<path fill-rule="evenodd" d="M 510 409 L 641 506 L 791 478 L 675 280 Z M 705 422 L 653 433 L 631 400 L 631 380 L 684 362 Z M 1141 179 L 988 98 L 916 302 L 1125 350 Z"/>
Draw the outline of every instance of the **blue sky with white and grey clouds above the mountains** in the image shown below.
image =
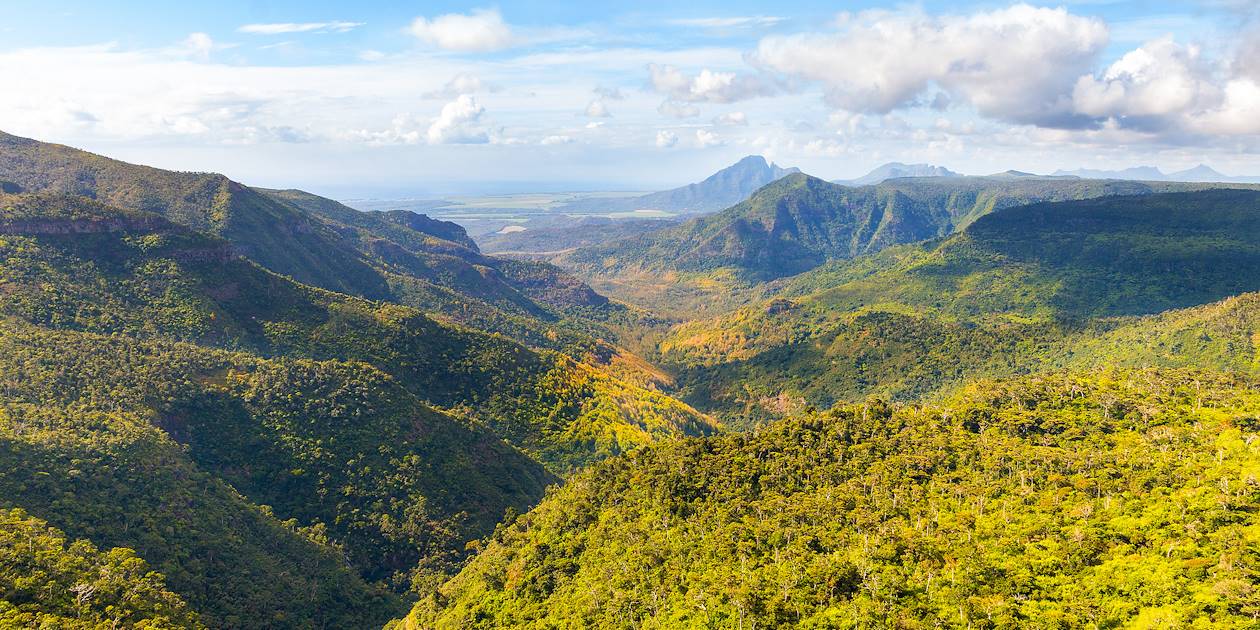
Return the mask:
<path fill-rule="evenodd" d="M 0 0 L 0 130 L 340 198 L 1260 175 L 1260 1 Z"/>

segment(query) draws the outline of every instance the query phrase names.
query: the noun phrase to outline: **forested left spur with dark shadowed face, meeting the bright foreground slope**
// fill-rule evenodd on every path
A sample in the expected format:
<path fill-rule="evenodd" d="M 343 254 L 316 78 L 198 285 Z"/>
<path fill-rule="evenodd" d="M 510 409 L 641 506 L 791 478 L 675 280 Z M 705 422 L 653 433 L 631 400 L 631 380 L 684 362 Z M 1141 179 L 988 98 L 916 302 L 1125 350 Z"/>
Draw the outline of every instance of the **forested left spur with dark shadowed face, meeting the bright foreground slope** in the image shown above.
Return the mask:
<path fill-rule="evenodd" d="M 360 363 L 8 325 L 3 349 L 11 401 L 146 418 L 199 469 L 318 529 L 373 582 L 406 588 L 450 571 L 466 542 L 556 480 L 485 427 L 428 408 Z M 93 438 L 91 425 L 83 431 Z M 49 499 L 26 495 L 19 505 L 39 514 Z"/>

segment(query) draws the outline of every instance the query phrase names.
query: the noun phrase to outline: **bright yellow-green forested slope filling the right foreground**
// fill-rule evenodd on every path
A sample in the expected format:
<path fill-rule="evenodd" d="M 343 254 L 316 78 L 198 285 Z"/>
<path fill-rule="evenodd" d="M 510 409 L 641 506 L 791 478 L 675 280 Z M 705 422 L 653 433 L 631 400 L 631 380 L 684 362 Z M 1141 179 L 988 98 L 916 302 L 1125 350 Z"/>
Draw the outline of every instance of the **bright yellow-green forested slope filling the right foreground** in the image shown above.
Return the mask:
<path fill-rule="evenodd" d="M 1251 379 L 1100 372 L 609 461 L 399 627 L 1246 627 Z"/>

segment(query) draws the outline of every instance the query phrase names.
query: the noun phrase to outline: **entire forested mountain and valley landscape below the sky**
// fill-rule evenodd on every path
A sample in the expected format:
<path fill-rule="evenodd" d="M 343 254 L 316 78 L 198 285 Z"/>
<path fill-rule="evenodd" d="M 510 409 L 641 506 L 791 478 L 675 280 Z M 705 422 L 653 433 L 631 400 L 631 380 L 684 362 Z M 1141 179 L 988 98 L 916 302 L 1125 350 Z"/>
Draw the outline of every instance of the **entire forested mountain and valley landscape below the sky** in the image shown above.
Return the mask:
<path fill-rule="evenodd" d="M 0 625 L 1260 625 L 1255 186 L 709 193 L 504 257 L 0 134 Z"/>

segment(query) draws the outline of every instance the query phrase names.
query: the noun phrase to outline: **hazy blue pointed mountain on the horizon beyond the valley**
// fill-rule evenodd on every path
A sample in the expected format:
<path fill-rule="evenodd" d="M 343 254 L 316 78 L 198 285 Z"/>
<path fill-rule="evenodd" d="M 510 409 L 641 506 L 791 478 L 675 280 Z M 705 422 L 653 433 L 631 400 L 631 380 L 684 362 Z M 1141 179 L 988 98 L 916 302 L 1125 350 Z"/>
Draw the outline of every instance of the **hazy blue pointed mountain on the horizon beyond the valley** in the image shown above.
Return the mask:
<path fill-rule="evenodd" d="M 696 184 L 643 197 L 582 199 L 558 209 L 561 212 L 663 210 L 680 214 L 717 212 L 747 199 L 753 190 L 793 173 L 800 173 L 800 169 L 785 169 L 767 163 L 760 155 L 750 155 Z"/>

